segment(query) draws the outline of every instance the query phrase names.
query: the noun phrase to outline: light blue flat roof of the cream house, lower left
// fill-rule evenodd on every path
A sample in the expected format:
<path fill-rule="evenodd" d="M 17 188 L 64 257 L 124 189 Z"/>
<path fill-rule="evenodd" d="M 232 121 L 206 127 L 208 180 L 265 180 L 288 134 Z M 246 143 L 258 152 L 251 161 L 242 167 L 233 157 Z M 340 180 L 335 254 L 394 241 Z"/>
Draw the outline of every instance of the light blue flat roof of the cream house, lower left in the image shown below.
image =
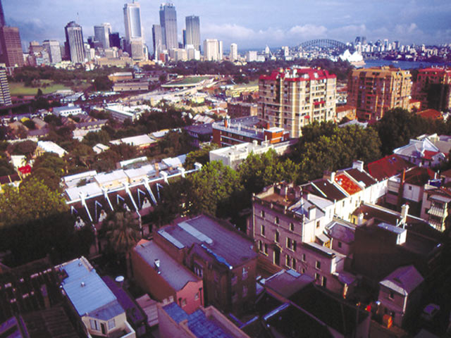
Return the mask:
<path fill-rule="evenodd" d="M 62 286 L 78 315 L 109 320 L 124 312 L 116 296 L 85 258 L 61 266 L 68 274 Z"/>

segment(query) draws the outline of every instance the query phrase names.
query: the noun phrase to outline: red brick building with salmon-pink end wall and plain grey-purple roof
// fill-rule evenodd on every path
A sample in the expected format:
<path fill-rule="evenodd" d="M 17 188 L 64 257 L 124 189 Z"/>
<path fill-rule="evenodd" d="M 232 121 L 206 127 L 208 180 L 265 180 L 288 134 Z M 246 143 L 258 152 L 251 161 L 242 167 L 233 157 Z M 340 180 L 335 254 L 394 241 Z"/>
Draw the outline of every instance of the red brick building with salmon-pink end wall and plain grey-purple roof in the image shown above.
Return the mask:
<path fill-rule="evenodd" d="M 132 250 L 137 284 L 164 304 L 175 301 L 187 313 L 204 304 L 202 278 L 178 263 L 153 241 L 142 239 Z"/>

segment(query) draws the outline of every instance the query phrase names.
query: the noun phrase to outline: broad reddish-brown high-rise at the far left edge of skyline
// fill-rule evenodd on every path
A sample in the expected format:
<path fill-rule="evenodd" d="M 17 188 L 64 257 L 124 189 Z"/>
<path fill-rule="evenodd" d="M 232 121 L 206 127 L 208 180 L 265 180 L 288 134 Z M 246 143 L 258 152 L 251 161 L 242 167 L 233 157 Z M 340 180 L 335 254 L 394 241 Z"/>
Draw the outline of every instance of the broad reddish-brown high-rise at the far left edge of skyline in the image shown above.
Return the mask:
<path fill-rule="evenodd" d="M 0 27 L 1 61 L 6 67 L 23 67 L 23 50 L 18 27 Z"/>

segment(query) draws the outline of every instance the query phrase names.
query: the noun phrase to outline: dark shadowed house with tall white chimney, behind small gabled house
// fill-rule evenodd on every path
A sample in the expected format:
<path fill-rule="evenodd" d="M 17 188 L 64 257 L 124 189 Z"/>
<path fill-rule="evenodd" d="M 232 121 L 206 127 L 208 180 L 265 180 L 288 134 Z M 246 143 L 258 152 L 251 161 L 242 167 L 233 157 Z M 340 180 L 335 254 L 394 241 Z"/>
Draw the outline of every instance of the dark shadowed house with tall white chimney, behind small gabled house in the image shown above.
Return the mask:
<path fill-rule="evenodd" d="M 352 268 L 373 287 L 403 265 L 414 264 L 425 278 L 435 271 L 442 235 L 408 211 L 362 204 L 352 215 L 357 225 Z"/>

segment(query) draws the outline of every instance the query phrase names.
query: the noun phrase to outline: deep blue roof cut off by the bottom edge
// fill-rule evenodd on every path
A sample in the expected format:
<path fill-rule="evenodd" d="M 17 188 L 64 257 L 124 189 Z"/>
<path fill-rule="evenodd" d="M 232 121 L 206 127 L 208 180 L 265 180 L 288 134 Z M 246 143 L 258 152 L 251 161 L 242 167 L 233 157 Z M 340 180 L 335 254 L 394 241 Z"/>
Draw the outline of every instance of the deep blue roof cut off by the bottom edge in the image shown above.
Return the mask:
<path fill-rule="evenodd" d="M 233 336 L 228 334 L 215 320 L 206 318 L 204 311 L 201 309 L 188 315 L 177 303 L 170 303 L 163 306 L 163 310 L 166 311 L 176 323 L 180 323 L 187 319 L 188 328 L 196 337 L 233 338 Z"/>

